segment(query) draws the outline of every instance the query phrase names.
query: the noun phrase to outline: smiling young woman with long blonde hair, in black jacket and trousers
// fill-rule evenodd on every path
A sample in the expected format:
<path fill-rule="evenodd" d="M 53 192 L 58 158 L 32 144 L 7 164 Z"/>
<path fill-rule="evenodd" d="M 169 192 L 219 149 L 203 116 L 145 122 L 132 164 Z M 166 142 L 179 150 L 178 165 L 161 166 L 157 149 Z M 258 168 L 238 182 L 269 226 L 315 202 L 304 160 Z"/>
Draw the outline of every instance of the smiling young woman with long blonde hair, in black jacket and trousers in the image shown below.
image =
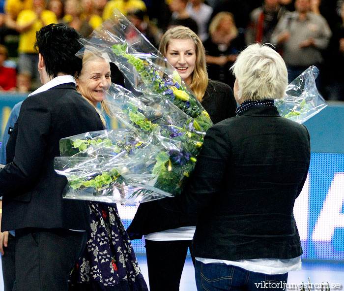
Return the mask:
<path fill-rule="evenodd" d="M 213 123 L 235 116 L 231 88 L 208 79 L 200 38 L 189 28 L 177 26 L 162 37 L 159 50 L 178 71 L 207 110 Z M 150 291 L 178 291 L 196 219 L 163 209 L 157 201 L 140 205 L 127 232 L 131 239 L 145 238 Z M 194 261 L 194 258 L 193 258 Z"/>

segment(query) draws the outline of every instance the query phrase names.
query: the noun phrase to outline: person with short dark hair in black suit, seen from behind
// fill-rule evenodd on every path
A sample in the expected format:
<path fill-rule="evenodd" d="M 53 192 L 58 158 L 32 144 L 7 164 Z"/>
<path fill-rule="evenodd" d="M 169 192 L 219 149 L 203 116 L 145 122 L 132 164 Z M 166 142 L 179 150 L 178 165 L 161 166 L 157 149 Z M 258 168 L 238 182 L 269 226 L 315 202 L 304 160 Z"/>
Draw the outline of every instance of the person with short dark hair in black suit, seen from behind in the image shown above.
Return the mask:
<path fill-rule="evenodd" d="M 36 33 L 42 86 L 23 101 L 0 170 L 1 230 L 15 230 L 18 291 L 67 291 L 69 273 L 85 248 L 87 203 L 63 199 L 67 180 L 54 170 L 61 138 L 104 128 L 76 91 L 80 37 L 63 24 Z"/>

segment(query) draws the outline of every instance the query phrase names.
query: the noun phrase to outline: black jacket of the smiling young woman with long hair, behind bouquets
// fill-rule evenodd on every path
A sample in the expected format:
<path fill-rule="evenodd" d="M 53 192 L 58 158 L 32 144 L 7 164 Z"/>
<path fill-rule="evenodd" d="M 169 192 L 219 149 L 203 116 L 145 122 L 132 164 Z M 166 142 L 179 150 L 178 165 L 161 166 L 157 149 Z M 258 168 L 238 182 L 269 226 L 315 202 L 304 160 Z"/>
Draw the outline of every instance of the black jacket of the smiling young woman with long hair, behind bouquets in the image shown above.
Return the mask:
<path fill-rule="evenodd" d="M 209 80 L 201 103 L 214 124 L 235 116 L 236 101 L 227 84 Z M 127 232 L 130 239 L 141 239 L 143 234 L 195 225 L 196 216 L 163 209 L 155 200 L 140 204 Z"/>

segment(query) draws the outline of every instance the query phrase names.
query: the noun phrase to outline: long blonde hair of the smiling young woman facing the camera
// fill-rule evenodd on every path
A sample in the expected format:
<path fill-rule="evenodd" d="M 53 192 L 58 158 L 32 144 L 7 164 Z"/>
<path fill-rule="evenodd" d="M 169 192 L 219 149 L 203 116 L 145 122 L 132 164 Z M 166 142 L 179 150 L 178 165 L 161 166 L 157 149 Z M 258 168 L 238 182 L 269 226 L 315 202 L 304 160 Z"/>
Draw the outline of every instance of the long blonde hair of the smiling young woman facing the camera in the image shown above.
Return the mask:
<path fill-rule="evenodd" d="M 195 32 L 184 26 L 175 26 L 167 30 L 159 45 L 159 51 L 166 57 L 167 48 L 172 39 L 191 39 L 196 48 L 196 64 L 192 72 L 192 82 L 190 89 L 194 92 L 197 99 L 202 101 L 205 90 L 208 86 L 208 72 L 206 70 L 205 49 L 201 39 Z"/>

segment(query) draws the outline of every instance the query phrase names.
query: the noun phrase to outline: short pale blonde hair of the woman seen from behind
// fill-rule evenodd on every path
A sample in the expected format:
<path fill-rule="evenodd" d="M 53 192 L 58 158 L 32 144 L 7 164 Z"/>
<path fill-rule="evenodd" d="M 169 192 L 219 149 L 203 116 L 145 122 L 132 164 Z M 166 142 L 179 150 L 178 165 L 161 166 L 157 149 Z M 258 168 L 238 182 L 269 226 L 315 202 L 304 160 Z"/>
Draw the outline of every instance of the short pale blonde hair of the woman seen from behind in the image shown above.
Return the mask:
<path fill-rule="evenodd" d="M 268 45 L 249 45 L 239 54 L 231 70 L 239 88 L 238 98 L 243 101 L 284 96 L 287 67 L 280 54 Z"/>

